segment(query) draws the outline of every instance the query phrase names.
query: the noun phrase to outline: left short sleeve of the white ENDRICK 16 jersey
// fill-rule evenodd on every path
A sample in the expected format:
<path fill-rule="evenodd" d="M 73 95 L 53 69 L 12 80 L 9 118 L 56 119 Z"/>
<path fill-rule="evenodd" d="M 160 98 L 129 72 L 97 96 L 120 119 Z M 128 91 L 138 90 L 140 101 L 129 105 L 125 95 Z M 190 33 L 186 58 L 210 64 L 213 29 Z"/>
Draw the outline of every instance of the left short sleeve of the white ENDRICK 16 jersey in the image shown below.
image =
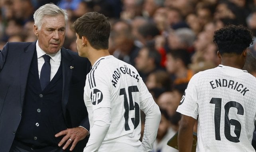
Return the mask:
<path fill-rule="evenodd" d="M 194 119 L 197 119 L 198 116 L 198 97 L 197 97 L 197 80 L 199 75 L 195 74 L 191 80 L 189 81 L 189 84 L 187 85 L 187 88 L 183 94 L 183 97 L 181 98 L 181 101 L 179 103 L 179 106 L 177 108 L 177 112 L 187 115 L 190 117 L 193 117 Z"/>

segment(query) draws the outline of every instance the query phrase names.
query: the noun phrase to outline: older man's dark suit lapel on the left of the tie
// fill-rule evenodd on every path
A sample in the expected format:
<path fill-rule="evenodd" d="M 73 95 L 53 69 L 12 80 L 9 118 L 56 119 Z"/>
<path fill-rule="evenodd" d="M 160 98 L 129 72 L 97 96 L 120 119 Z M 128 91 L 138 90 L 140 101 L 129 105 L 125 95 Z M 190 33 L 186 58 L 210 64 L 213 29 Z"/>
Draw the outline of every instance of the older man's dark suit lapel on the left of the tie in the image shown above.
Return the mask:
<path fill-rule="evenodd" d="M 25 90 L 28 80 L 28 72 L 30 70 L 30 64 L 33 58 L 33 54 L 35 52 L 35 43 L 31 43 L 28 47 L 24 48 L 24 51 L 20 55 L 20 87 L 21 87 L 21 101 L 23 105 Z"/>

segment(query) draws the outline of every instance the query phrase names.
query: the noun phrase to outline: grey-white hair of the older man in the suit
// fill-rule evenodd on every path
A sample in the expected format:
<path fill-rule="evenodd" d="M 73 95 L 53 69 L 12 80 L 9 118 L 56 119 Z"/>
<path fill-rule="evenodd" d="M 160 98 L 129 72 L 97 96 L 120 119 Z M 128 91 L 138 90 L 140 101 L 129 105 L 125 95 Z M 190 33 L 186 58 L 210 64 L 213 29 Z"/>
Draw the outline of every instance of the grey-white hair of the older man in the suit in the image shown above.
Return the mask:
<path fill-rule="evenodd" d="M 57 16 L 59 14 L 65 17 L 65 23 L 67 24 L 67 20 L 68 20 L 67 10 L 61 9 L 53 3 L 45 4 L 40 8 L 38 8 L 33 15 L 35 25 L 40 30 L 43 24 L 42 22 L 43 18 L 45 16 Z"/>

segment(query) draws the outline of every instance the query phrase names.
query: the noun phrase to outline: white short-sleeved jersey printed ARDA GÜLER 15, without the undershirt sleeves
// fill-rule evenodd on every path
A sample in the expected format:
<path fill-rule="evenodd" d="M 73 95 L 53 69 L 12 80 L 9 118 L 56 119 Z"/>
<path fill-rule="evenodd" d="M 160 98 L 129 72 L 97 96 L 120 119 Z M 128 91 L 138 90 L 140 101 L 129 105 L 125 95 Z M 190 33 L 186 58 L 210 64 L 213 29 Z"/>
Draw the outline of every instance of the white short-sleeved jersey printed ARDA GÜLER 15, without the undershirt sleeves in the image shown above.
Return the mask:
<path fill-rule="evenodd" d="M 84 93 L 90 127 L 95 121 L 94 110 L 111 108 L 111 125 L 99 151 L 142 151 L 139 140 L 140 109 L 156 105 L 154 100 L 143 102 L 151 97 L 137 70 L 130 64 L 112 55 L 101 57 L 95 62 L 91 72 L 87 74 Z M 156 123 L 159 125 L 159 122 Z M 157 130 L 158 127 L 152 133 L 153 138 L 156 138 Z"/>

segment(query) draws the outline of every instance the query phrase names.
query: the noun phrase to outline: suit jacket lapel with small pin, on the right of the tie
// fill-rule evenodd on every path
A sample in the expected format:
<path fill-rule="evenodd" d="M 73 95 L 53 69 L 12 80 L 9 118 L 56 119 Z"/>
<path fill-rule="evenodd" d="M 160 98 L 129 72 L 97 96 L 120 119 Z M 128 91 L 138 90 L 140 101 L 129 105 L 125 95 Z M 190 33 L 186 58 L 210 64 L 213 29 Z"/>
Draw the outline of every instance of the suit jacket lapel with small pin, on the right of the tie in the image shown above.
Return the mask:
<path fill-rule="evenodd" d="M 73 57 L 67 50 L 61 49 L 61 62 L 62 62 L 62 76 L 63 76 L 63 89 L 62 89 L 62 110 L 64 117 L 66 116 L 66 105 L 69 99 L 69 86 L 72 77 Z M 65 117 L 66 119 L 66 117 Z"/>

